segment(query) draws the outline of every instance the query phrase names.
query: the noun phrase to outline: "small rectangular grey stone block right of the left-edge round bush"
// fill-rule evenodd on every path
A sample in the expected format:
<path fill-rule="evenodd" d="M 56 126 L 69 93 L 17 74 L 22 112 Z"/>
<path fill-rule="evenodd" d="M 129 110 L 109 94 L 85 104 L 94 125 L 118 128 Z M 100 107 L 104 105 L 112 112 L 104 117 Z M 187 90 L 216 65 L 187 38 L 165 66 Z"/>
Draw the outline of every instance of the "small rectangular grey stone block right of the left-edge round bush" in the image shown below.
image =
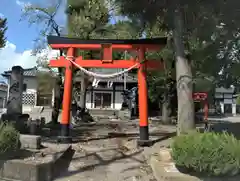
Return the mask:
<path fill-rule="evenodd" d="M 27 149 L 41 148 L 41 136 L 21 134 L 20 142 L 21 142 L 22 148 L 27 148 Z"/>

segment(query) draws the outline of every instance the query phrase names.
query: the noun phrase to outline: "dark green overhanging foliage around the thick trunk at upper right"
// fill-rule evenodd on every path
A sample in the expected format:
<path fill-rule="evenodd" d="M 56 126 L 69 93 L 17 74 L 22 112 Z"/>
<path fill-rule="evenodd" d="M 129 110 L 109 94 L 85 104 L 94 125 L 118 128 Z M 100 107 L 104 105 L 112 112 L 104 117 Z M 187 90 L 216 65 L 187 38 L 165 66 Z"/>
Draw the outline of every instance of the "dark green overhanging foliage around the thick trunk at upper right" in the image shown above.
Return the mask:
<path fill-rule="evenodd" d="M 193 77 L 202 77 L 218 86 L 238 86 L 239 76 L 239 2 L 234 0 L 178 2 L 115 0 L 122 15 L 138 18 L 151 31 L 173 36 L 174 9 L 183 13 L 185 51 L 190 55 Z M 136 4 L 138 4 L 136 6 Z M 159 19 L 160 17 L 160 19 Z M 156 26 L 156 21 L 157 26 Z M 229 22 L 232 23 L 229 23 Z M 207 27 L 207 28 L 206 28 Z M 151 32 L 149 33 L 152 34 Z M 156 35 L 155 35 L 156 36 Z M 219 72 L 222 75 L 218 75 Z"/>

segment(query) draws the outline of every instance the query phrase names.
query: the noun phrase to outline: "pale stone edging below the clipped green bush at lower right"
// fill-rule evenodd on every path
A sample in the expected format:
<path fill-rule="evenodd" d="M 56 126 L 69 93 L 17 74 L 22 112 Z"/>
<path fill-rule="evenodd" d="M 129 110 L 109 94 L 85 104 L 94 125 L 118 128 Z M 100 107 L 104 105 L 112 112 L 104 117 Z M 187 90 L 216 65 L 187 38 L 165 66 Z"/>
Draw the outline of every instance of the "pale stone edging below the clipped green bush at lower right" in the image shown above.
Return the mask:
<path fill-rule="evenodd" d="M 158 155 L 152 155 L 149 164 L 157 181 L 239 181 L 240 176 L 222 178 L 200 178 L 178 171 L 173 162 L 164 162 Z"/>

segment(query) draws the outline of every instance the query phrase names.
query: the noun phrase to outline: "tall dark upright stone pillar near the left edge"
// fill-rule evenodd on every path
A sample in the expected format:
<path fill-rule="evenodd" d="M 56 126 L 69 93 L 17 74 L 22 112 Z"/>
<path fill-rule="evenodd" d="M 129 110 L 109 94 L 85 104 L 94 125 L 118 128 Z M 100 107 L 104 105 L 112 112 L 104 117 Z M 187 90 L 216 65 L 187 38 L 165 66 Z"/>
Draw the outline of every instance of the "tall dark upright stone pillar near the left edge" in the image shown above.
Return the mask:
<path fill-rule="evenodd" d="M 22 94 L 23 94 L 23 68 L 21 66 L 12 67 L 10 77 L 9 97 L 7 102 L 7 114 L 22 114 Z"/>

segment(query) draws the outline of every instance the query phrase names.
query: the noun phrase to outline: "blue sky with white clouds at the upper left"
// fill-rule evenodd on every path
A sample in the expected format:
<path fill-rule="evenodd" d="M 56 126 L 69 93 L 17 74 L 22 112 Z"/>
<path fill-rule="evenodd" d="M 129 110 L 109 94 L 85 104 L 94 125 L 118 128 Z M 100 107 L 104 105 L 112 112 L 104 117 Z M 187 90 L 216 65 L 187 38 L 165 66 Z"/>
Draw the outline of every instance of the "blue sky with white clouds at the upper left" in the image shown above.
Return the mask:
<path fill-rule="evenodd" d="M 29 26 L 27 20 L 22 20 L 22 9 L 27 4 L 46 4 L 54 0 L 1 0 L 0 16 L 7 18 L 7 44 L 0 50 L 0 73 L 11 69 L 14 65 L 30 68 L 36 65 L 36 57 L 31 56 L 34 40 L 39 37 L 41 25 Z M 66 18 L 64 5 L 60 8 L 56 21 L 64 25 Z"/>

